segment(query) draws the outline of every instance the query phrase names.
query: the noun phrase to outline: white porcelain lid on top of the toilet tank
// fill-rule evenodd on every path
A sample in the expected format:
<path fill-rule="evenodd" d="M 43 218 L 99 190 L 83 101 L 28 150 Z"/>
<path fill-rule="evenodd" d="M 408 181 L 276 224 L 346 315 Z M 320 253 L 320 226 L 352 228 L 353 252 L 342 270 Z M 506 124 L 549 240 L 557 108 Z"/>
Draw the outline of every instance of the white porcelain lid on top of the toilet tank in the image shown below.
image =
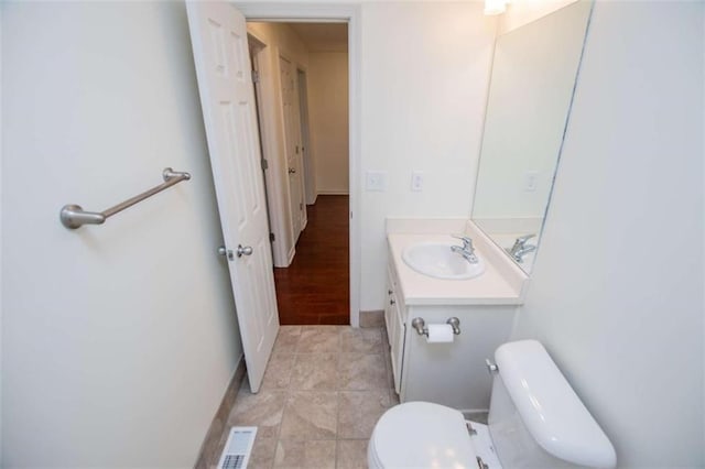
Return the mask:
<path fill-rule="evenodd" d="M 524 425 L 543 449 L 576 465 L 617 465 L 609 438 L 539 341 L 505 343 L 495 359 Z"/>

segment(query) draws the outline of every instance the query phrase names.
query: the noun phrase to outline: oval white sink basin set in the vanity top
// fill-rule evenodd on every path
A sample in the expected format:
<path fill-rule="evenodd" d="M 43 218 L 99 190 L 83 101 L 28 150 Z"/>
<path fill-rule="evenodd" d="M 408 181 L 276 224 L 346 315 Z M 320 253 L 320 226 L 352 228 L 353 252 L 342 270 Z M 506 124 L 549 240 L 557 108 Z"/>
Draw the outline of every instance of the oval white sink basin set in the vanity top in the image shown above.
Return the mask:
<path fill-rule="evenodd" d="M 451 250 L 451 243 L 420 242 L 406 247 L 402 259 L 411 269 L 435 279 L 467 280 L 481 275 L 485 263 L 478 260 L 471 264 L 467 259 Z"/>

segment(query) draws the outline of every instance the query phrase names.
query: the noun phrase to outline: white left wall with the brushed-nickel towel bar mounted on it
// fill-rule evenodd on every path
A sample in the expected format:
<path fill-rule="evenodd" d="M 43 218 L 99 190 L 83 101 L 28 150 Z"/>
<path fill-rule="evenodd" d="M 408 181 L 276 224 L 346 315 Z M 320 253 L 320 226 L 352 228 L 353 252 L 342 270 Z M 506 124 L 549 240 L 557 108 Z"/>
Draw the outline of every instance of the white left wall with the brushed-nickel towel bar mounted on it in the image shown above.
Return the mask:
<path fill-rule="evenodd" d="M 242 349 L 184 4 L 2 9 L 0 466 L 192 466 Z"/>

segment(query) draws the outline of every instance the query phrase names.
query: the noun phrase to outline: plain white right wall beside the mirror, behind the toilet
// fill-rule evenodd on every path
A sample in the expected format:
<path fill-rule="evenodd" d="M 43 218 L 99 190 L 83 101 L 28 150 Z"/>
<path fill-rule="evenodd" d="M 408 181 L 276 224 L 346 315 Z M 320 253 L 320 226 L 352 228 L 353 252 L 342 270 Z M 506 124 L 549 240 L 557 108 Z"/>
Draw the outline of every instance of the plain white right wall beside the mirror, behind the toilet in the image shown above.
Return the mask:
<path fill-rule="evenodd" d="M 622 467 L 703 467 L 703 4 L 597 2 L 514 338 Z"/>

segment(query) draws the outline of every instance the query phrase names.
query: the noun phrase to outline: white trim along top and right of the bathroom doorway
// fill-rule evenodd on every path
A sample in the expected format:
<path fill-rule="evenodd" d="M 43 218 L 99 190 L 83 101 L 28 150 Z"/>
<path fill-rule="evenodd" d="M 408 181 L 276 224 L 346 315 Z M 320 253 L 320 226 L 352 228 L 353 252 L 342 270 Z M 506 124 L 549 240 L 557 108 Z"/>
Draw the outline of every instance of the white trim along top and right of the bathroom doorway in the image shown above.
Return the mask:
<path fill-rule="evenodd" d="M 348 23 L 350 325 L 360 325 L 360 7 L 349 3 L 232 3 L 248 21 Z"/>

